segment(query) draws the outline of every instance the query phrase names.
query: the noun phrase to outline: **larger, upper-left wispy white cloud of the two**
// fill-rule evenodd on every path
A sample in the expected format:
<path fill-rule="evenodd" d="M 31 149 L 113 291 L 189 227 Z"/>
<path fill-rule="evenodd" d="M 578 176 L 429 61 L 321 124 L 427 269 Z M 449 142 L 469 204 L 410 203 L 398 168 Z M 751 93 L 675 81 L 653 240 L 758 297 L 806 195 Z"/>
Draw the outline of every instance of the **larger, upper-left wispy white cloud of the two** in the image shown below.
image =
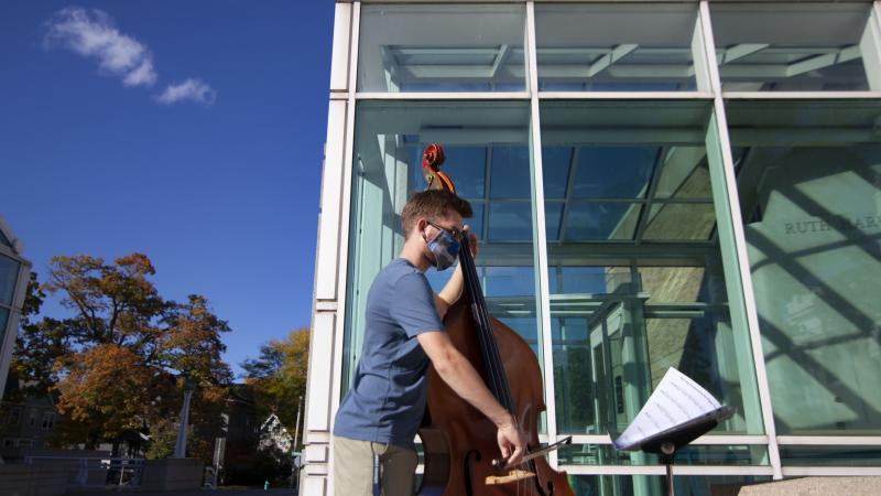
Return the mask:
<path fill-rule="evenodd" d="M 61 46 L 94 58 L 105 73 L 122 78 L 124 86 L 152 86 L 156 82 L 153 54 L 146 45 L 119 32 L 101 10 L 68 7 L 46 22 L 47 48 Z"/>

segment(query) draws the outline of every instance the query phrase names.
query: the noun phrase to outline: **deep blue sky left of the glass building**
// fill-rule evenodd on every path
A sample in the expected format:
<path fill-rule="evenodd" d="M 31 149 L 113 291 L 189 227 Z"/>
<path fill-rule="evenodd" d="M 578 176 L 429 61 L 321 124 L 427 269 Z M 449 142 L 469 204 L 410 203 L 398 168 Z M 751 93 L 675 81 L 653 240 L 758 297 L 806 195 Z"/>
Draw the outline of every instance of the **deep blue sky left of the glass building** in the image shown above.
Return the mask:
<path fill-rule="evenodd" d="M 34 270 L 146 254 L 164 298 L 204 294 L 229 322 L 236 371 L 307 326 L 333 13 L 0 2 L 0 215 Z M 57 299 L 43 311 L 68 315 Z"/>

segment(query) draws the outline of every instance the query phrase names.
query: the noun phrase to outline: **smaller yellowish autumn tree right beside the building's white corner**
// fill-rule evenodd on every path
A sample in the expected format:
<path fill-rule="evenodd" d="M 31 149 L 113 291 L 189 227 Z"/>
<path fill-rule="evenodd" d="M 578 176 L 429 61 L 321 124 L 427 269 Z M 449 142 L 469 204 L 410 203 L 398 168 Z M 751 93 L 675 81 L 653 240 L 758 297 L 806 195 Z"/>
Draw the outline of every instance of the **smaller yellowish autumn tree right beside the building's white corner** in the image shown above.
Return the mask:
<path fill-rule="evenodd" d="M 258 358 L 241 364 L 259 418 L 265 419 L 274 412 L 292 434 L 296 429 L 300 398 L 306 396 L 308 353 L 309 330 L 298 328 L 283 339 L 270 341 L 260 347 Z M 303 421 L 302 416 L 300 420 Z"/>

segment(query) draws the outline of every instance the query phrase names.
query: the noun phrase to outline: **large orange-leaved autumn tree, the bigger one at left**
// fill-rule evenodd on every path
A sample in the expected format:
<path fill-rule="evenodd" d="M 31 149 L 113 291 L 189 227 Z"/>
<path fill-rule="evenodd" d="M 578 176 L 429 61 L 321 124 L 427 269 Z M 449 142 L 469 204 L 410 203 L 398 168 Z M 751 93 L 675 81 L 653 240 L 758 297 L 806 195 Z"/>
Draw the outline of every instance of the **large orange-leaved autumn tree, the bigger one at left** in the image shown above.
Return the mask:
<path fill-rule="evenodd" d="M 62 295 L 73 311 L 63 321 L 43 319 L 25 346 L 21 369 L 59 392 L 57 442 L 94 446 L 126 429 L 150 432 L 176 419 L 182 379 L 196 381 L 191 406 L 191 455 L 210 459 L 231 373 L 220 355 L 227 323 L 204 296 L 186 303 L 162 299 L 142 254 L 106 263 L 89 256 L 54 257 L 35 299 Z M 42 357 L 42 358 L 41 358 Z M 40 359 L 52 367 L 39 366 Z M 30 374 L 30 376 L 28 376 Z"/>

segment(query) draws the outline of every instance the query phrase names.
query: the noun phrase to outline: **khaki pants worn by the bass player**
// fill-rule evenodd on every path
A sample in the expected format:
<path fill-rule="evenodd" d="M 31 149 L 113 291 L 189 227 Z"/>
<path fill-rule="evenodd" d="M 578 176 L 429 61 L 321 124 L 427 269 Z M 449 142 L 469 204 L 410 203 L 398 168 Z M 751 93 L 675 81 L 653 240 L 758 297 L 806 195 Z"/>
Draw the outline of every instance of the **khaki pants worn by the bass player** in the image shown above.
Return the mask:
<path fill-rule="evenodd" d="M 382 496 L 412 496 L 418 459 L 400 446 L 334 436 L 334 494 L 373 495 L 373 455 L 379 455 Z"/>

